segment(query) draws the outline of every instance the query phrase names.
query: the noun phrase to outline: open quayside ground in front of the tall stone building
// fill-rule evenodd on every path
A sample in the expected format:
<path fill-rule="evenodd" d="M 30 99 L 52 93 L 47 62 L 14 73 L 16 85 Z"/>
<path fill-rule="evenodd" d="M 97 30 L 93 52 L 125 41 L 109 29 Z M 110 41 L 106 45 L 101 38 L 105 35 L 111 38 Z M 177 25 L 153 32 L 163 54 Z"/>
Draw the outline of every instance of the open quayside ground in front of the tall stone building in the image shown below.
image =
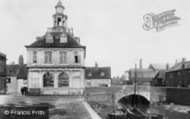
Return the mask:
<path fill-rule="evenodd" d="M 93 118 L 96 114 L 84 103 L 83 97 L 0 95 L 0 106 L 46 106 L 49 107 L 49 119 L 99 119 Z"/>

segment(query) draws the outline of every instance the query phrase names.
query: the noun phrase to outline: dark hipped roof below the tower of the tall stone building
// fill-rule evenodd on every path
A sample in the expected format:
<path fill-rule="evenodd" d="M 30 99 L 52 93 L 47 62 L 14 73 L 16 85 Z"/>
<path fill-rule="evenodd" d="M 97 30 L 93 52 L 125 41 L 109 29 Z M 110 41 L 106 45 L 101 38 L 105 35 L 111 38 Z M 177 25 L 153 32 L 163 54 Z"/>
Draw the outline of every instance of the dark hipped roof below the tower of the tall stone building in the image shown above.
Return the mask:
<path fill-rule="evenodd" d="M 53 36 L 53 43 L 46 43 L 46 36 L 40 37 L 38 40 L 36 40 L 34 43 L 32 43 L 29 46 L 25 46 L 26 48 L 86 48 L 85 46 L 80 45 L 74 36 L 70 35 L 69 33 L 66 33 L 67 36 L 67 42 L 61 43 L 60 42 L 60 36 L 62 32 L 51 32 L 50 33 Z"/>

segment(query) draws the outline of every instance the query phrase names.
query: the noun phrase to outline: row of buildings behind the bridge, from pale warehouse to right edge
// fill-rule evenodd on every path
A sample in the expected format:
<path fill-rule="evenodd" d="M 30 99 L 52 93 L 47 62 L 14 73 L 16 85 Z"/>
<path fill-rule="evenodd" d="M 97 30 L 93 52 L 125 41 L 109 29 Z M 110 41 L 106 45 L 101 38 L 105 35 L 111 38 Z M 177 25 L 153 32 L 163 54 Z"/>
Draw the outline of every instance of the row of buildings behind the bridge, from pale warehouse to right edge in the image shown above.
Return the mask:
<path fill-rule="evenodd" d="M 190 61 L 184 58 L 171 67 L 168 63 L 150 64 L 147 69 L 129 69 L 127 73 L 130 81 L 134 82 L 136 79 L 136 82 L 142 85 L 190 87 Z"/>

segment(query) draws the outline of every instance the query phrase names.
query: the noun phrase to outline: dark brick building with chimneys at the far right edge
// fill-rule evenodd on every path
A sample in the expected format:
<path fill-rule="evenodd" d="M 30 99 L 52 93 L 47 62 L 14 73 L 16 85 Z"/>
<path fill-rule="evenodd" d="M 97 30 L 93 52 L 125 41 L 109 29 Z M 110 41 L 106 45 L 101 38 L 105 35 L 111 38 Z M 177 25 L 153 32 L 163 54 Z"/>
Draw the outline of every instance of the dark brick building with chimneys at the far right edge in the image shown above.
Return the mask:
<path fill-rule="evenodd" d="M 166 72 L 167 86 L 190 87 L 190 61 L 176 63 Z"/>

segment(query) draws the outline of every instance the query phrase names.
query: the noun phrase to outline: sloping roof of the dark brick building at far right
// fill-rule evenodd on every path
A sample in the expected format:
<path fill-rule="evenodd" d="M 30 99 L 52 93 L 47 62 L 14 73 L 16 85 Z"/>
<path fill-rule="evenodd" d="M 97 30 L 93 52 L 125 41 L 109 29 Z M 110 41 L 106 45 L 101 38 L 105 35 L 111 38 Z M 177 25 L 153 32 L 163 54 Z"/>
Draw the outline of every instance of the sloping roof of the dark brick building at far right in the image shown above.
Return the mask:
<path fill-rule="evenodd" d="M 173 67 L 168 69 L 167 72 L 178 71 L 178 70 L 182 70 L 183 68 L 189 69 L 190 68 L 190 61 L 177 63 Z"/>

